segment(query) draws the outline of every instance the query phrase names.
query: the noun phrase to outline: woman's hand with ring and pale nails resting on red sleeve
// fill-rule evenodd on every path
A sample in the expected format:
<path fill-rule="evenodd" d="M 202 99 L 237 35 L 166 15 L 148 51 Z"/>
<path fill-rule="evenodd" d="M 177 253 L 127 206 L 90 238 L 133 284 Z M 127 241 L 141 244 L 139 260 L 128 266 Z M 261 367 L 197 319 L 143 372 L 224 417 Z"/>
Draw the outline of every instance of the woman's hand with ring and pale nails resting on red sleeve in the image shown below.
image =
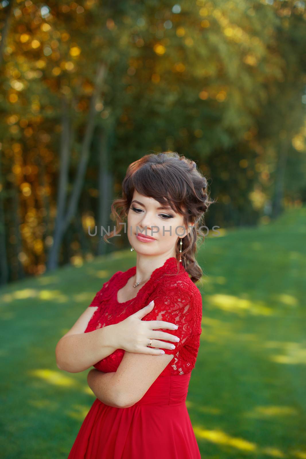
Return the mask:
<path fill-rule="evenodd" d="M 177 330 L 177 325 L 163 320 L 141 320 L 146 314 L 154 308 L 154 301 L 151 301 L 145 308 L 122 320 L 118 324 L 111 325 L 113 332 L 116 333 L 115 341 L 118 349 L 124 349 L 128 352 L 160 355 L 164 352 L 160 348 L 172 349 L 170 343 L 161 340 L 178 342 L 176 336 L 165 331 L 156 331 L 155 329 L 165 328 Z M 151 346 L 147 344 L 152 338 Z"/>

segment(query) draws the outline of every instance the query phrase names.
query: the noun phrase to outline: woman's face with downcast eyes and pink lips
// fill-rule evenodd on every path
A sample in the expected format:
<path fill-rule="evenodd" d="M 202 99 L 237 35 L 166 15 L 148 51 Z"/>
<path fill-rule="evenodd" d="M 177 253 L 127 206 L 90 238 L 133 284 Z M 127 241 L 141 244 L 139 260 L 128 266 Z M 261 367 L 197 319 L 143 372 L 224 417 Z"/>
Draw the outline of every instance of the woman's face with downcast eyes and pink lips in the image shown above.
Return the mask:
<path fill-rule="evenodd" d="M 128 241 L 137 253 L 175 257 L 178 237 L 184 237 L 190 230 L 184 226 L 183 215 L 134 190 L 128 210 L 127 232 Z M 145 238 L 146 235 L 154 239 Z"/>

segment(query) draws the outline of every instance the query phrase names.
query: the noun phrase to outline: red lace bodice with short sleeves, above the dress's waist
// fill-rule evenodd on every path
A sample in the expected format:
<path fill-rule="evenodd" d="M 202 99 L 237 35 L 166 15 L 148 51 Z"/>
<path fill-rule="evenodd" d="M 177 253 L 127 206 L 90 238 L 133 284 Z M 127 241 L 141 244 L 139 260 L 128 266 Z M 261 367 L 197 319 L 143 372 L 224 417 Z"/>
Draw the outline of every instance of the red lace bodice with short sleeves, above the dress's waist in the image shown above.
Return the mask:
<path fill-rule="evenodd" d="M 136 273 L 136 266 L 125 272 L 117 271 L 90 303 L 89 306 L 96 306 L 98 309 L 89 320 L 85 333 L 117 324 L 154 300 L 154 308 L 142 320 L 164 320 L 177 324 L 178 330 L 161 330 L 180 338 L 178 343 L 173 343 L 175 349 L 163 349 L 166 354 L 174 355 L 174 358 L 160 376 L 190 373 L 195 367 L 200 346 L 202 297 L 182 264 L 179 264 L 178 274 L 166 275 L 177 272 L 177 259 L 168 258 L 160 268 L 153 271 L 136 297 L 121 303 L 117 301 L 117 291 Z M 104 373 L 116 371 L 124 352 L 123 349 L 116 349 L 111 355 L 97 362 L 95 368 Z"/>

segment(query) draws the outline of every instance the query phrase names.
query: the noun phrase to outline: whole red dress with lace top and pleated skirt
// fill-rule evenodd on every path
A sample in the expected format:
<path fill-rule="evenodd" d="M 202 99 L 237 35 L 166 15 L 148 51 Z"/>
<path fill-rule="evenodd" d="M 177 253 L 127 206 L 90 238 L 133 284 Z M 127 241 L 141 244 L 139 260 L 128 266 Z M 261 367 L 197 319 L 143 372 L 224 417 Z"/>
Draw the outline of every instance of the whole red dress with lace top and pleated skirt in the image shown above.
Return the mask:
<path fill-rule="evenodd" d="M 177 324 L 178 330 L 163 331 L 179 336 L 180 341 L 174 343 L 174 350 L 163 349 L 174 358 L 133 406 L 115 408 L 95 399 L 68 459 L 200 459 L 185 400 L 200 346 L 202 298 L 182 263 L 174 274 L 177 263 L 175 257 L 168 258 L 137 296 L 126 302 L 117 301 L 117 291 L 135 274 L 135 266 L 117 271 L 95 295 L 90 306 L 98 309 L 85 333 L 117 324 L 154 299 L 154 308 L 142 320 Z M 116 371 L 124 352 L 117 349 L 95 368 L 105 373 Z"/>

